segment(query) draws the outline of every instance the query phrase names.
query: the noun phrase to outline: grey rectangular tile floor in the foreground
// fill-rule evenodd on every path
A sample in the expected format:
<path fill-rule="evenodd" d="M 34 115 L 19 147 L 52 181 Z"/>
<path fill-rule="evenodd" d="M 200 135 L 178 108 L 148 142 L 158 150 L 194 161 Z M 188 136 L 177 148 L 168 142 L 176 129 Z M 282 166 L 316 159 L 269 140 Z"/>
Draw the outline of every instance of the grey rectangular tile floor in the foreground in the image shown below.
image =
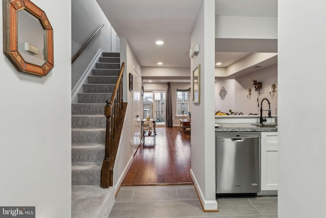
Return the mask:
<path fill-rule="evenodd" d="M 219 212 L 203 212 L 193 185 L 122 186 L 109 218 L 277 218 L 277 196 L 219 198 Z"/>

